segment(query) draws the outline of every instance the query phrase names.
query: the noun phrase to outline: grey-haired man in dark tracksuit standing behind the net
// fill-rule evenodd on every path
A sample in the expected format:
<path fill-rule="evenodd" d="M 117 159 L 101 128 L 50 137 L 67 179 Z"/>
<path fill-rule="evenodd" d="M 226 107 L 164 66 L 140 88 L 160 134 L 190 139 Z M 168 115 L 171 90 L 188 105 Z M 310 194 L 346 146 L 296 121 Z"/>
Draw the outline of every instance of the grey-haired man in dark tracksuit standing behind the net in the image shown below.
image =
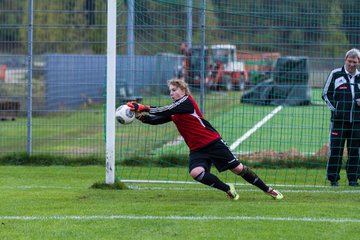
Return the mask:
<path fill-rule="evenodd" d="M 360 51 L 350 49 L 345 65 L 334 69 L 327 78 L 322 98 L 331 111 L 327 180 L 338 186 L 346 142 L 346 175 L 349 186 L 359 186 L 360 174 Z"/>

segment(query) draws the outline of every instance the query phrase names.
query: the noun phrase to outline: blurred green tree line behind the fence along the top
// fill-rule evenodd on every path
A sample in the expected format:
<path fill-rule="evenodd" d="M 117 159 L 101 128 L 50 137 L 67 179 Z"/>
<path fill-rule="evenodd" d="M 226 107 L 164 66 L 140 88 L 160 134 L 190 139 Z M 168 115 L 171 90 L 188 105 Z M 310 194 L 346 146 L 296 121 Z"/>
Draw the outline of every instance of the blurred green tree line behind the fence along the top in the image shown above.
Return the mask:
<path fill-rule="evenodd" d="M 27 49 L 28 2 L 0 1 L 4 9 L 0 40 Z M 232 42 L 243 49 L 280 51 L 291 47 L 338 57 L 358 43 L 358 2 L 278 0 L 206 1 L 207 43 Z M 118 52 L 126 53 L 127 1 L 118 1 Z M 34 1 L 34 53 L 96 53 L 106 50 L 106 1 Z M 290 12 L 291 14 L 290 14 Z M 13 13 L 16 14 L 13 14 Z M 135 1 L 137 54 L 177 52 L 186 40 L 187 1 Z M 12 27 L 17 26 L 17 27 Z M 20 27 L 21 26 L 21 27 Z M 201 43 L 201 2 L 193 1 L 193 42 Z M 264 44 L 266 43 L 266 44 Z M 22 48 L 19 47 L 22 45 Z M 339 46 L 334 49 L 333 46 Z M 5 46 L 5 45 L 4 45 Z M 259 49 L 260 48 L 260 49 Z"/>

